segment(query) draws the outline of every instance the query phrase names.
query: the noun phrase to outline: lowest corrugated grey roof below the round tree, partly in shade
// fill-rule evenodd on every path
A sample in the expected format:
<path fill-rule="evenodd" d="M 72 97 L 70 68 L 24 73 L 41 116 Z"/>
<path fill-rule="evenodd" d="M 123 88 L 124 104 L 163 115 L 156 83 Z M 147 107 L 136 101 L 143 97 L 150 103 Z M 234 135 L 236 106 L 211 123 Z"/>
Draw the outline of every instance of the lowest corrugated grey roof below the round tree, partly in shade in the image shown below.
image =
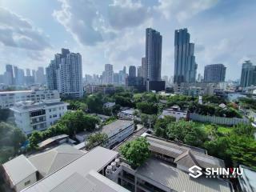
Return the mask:
<path fill-rule="evenodd" d="M 160 183 L 171 190 L 197 191 L 197 192 L 230 192 L 230 183 L 218 178 L 191 178 L 182 170 L 170 166 L 157 158 L 149 158 L 142 166 L 138 167 L 136 174 Z"/>

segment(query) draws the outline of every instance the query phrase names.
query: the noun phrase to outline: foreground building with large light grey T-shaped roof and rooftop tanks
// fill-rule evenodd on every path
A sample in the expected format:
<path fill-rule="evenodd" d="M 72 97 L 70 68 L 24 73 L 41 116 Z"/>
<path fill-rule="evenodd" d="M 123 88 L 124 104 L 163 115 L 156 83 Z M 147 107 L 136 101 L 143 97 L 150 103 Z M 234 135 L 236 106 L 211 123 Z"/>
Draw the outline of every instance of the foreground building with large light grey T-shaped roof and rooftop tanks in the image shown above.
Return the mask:
<path fill-rule="evenodd" d="M 22 192 L 129 192 L 104 177 L 107 168 L 118 167 L 118 152 L 98 146 Z"/>

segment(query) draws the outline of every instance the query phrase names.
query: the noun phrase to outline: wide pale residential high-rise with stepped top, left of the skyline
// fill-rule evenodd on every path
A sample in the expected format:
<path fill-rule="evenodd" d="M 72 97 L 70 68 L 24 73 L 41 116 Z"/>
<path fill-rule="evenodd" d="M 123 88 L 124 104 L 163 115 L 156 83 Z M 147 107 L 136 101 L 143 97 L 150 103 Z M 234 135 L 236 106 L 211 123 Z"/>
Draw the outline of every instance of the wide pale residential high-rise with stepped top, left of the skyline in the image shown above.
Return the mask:
<path fill-rule="evenodd" d="M 47 86 L 58 90 L 62 96 L 82 97 L 82 57 L 62 49 L 62 54 L 55 54 L 54 60 L 46 68 Z"/>

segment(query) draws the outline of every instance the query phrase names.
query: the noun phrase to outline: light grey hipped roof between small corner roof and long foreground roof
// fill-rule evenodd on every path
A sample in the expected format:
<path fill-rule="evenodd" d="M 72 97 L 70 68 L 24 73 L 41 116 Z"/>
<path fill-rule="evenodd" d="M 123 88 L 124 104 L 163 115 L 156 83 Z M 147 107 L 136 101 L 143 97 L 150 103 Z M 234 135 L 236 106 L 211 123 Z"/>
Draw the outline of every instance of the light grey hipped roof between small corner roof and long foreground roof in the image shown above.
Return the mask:
<path fill-rule="evenodd" d="M 29 161 L 37 168 L 39 173 L 45 177 L 70 162 L 73 162 L 75 159 L 80 158 L 84 154 L 82 150 L 77 150 L 73 146 L 62 145 L 41 154 L 36 154 L 30 157 Z"/>

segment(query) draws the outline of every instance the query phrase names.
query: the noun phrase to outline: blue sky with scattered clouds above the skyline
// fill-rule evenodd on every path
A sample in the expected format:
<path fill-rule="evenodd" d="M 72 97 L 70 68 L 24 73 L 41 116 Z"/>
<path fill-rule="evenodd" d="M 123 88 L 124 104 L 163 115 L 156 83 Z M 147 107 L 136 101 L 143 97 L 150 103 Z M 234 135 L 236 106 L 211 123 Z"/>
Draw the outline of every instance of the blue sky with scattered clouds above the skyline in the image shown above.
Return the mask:
<path fill-rule="evenodd" d="M 174 75 L 174 30 L 187 28 L 198 74 L 223 63 L 226 80 L 256 64 L 255 0 L 0 0 L 0 74 L 6 63 L 48 66 L 61 48 L 82 54 L 82 73 L 140 66 L 145 30 L 162 34 L 162 76 Z"/>

